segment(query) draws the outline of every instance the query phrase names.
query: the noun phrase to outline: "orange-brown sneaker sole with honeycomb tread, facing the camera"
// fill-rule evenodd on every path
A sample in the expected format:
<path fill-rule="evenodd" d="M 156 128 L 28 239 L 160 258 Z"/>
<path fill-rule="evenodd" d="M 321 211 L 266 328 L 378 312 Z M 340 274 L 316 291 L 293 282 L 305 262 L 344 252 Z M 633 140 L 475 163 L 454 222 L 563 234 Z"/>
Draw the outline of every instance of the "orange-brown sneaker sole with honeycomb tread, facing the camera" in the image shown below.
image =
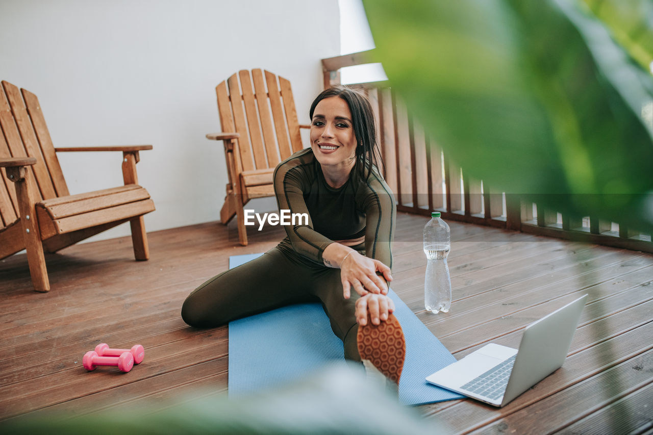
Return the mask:
<path fill-rule="evenodd" d="M 406 359 L 406 339 L 394 314 L 380 325 L 372 325 L 368 317 L 367 325 L 358 326 L 356 339 L 360 359 L 370 360 L 379 372 L 399 385 Z"/>

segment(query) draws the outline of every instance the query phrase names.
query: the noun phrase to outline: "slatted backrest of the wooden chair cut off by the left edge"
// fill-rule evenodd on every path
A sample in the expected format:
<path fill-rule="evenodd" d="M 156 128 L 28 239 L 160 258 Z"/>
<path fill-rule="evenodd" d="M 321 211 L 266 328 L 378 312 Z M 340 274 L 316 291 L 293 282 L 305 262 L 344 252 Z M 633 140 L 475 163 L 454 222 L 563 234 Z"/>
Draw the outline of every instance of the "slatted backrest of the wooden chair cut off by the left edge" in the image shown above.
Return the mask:
<path fill-rule="evenodd" d="M 27 170 L 33 176 L 37 199 L 69 195 L 61 166 L 52 145 L 48 127 L 33 93 L 9 82 L 0 88 L 0 157 L 35 157 L 37 163 Z M 0 217 L 3 227 L 18 219 L 18 201 L 14 184 L 5 171 L 0 183 Z M 1 227 L 0 227 L 1 228 Z"/>

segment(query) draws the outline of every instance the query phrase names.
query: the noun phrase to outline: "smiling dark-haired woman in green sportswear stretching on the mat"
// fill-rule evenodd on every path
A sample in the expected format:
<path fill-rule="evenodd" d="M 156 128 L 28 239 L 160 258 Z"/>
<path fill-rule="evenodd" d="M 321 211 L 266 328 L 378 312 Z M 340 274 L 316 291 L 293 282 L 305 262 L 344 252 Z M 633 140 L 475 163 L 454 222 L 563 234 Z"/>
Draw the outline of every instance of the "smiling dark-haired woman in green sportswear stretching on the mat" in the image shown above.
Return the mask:
<path fill-rule="evenodd" d="M 278 246 L 202 284 L 186 298 L 182 317 L 215 327 L 319 300 L 345 358 L 370 360 L 398 383 L 405 342 L 387 296 L 396 210 L 377 169 L 374 114 L 364 95 L 338 86 L 317 96 L 310 117 L 311 148 L 274 171 L 279 210 L 308 214 L 308 225 L 287 225 Z M 373 340 L 381 332 L 397 338 L 383 352 Z"/>

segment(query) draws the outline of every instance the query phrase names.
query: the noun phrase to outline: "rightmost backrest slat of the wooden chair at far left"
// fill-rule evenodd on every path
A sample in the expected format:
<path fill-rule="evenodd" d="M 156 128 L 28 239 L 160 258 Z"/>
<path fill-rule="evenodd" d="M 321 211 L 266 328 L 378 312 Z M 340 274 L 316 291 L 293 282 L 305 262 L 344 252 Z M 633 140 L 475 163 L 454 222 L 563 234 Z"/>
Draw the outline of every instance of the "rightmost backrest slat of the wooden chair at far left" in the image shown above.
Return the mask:
<path fill-rule="evenodd" d="M 66 185 L 66 180 L 63 178 L 63 172 L 61 172 L 59 159 L 57 159 L 57 154 L 54 151 L 52 138 L 50 138 L 50 132 L 48 131 L 48 126 L 45 123 L 45 118 L 40 108 L 39 99 L 37 99 L 36 95 L 25 89 L 21 89 L 21 92 L 25 100 L 25 105 L 27 106 L 29 118 L 31 119 L 32 125 L 34 127 L 37 140 L 39 141 L 43 159 L 46 163 L 46 166 L 48 167 L 48 172 L 50 172 L 50 178 L 52 179 L 52 185 L 54 186 L 54 189 L 57 193 L 57 197 L 69 195 L 68 186 Z"/>

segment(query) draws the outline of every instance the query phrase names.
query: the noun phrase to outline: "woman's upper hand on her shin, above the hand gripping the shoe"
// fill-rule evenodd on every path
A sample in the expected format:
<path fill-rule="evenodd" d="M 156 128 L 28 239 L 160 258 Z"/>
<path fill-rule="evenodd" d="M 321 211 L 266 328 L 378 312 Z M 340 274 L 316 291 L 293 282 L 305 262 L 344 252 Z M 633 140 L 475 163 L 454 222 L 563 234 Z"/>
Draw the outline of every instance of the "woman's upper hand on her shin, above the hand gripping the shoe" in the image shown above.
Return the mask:
<path fill-rule="evenodd" d="M 392 281 L 390 268 L 381 261 L 360 255 L 354 250 L 347 253 L 340 265 L 340 280 L 345 299 L 351 297 L 351 287 L 360 296 L 368 293 L 387 295 L 388 285 L 377 272 L 383 274 L 385 280 Z"/>

